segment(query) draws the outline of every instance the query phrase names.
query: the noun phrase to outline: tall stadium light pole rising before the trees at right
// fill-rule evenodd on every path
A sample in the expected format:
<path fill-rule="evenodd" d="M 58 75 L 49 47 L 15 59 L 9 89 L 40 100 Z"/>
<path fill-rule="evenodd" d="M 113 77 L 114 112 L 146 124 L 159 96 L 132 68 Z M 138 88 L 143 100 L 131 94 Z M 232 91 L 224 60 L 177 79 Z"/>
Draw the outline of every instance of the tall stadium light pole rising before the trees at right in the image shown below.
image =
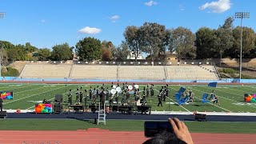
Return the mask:
<path fill-rule="evenodd" d="M 240 64 L 239 64 L 239 82 L 241 82 L 242 76 L 242 19 L 243 18 L 250 18 L 250 13 L 248 12 L 238 12 L 235 13 L 234 18 L 241 19 L 241 39 L 240 39 Z"/>

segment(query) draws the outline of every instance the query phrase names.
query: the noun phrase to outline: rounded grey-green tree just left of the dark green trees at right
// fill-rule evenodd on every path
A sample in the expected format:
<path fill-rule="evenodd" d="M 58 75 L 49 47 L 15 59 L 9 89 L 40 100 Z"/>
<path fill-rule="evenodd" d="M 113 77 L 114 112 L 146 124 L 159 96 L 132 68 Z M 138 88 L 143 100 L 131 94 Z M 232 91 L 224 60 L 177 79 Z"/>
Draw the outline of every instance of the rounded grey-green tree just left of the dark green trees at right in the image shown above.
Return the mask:
<path fill-rule="evenodd" d="M 178 58 L 195 58 L 195 36 L 191 30 L 178 27 L 170 32 L 170 50 L 174 50 Z"/>

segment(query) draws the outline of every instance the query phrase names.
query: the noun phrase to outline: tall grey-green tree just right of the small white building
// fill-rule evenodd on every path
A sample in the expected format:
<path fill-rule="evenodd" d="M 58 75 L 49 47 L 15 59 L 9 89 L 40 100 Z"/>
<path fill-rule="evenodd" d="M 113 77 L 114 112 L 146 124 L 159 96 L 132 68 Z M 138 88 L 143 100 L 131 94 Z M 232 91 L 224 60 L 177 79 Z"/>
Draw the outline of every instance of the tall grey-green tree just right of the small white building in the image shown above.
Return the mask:
<path fill-rule="evenodd" d="M 142 51 L 150 54 L 151 60 L 158 57 L 166 38 L 166 27 L 158 23 L 145 22 L 140 27 L 142 33 Z"/>

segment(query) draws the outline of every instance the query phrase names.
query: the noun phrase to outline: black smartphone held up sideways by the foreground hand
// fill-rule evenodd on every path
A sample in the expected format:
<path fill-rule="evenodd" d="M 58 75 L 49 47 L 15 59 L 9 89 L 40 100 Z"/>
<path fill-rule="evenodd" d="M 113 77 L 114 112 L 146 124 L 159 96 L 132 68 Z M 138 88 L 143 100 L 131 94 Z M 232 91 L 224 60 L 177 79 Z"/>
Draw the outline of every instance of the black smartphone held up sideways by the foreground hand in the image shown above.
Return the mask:
<path fill-rule="evenodd" d="M 144 134 L 146 138 L 155 137 L 157 134 L 162 134 L 164 131 L 173 133 L 173 128 L 170 125 L 170 122 L 144 122 Z"/>

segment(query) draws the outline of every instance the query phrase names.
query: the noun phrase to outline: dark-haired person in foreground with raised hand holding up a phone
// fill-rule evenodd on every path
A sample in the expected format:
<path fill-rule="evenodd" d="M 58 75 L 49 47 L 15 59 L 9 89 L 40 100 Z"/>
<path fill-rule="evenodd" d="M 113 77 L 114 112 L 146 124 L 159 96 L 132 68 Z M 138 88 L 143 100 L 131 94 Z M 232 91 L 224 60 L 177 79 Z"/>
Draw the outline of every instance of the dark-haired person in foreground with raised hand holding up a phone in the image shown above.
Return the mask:
<path fill-rule="evenodd" d="M 174 134 L 164 132 L 154 138 L 150 138 L 143 144 L 194 144 L 190 131 L 186 127 L 184 122 L 180 122 L 178 118 L 169 118 L 168 121 L 173 127 Z"/>

